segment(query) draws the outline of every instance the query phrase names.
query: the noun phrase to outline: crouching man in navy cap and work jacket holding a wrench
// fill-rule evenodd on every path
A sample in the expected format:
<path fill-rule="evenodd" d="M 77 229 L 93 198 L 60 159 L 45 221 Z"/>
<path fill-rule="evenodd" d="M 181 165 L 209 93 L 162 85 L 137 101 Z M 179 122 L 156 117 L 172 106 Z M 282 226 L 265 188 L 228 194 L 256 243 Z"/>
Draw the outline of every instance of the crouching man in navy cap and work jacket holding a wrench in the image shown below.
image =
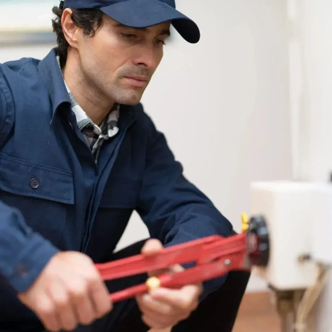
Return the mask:
<path fill-rule="evenodd" d="M 104 283 L 94 266 L 233 234 L 139 103 L 170 25 L 191 43 L 197 25 L 174 0 L 53 12 L 58 47 L 0 65 L 0 330 L 231 331 L 246 273 L 113 305 L 109 292 L 146 276 Z M 114 254 L 134 209 L 151 239 Z"/>

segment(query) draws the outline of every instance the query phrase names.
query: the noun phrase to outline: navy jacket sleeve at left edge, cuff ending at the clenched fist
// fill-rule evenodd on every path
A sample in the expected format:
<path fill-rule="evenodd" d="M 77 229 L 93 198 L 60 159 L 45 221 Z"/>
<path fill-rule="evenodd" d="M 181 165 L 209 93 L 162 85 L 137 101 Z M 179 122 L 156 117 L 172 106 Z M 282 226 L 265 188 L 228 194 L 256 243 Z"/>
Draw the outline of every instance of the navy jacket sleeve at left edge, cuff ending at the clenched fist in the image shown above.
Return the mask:
<path fill-rule="evenodd" d="M 14 102 L 0 64 L 1 142 L 13 112 Z M 56 252 L 57 248 L 27 226 L 19 210 L 0 201 L 0 274 L 16 291 L 27 290 Z"/>

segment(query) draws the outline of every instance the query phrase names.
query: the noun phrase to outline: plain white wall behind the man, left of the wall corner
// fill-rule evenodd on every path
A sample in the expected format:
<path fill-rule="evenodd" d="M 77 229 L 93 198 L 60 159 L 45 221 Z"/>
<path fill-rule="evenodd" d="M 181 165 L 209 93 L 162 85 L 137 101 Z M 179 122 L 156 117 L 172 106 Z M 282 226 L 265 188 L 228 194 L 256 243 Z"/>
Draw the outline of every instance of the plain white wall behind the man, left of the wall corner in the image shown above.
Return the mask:
<path fill-rule="evenodd" d="M 202 39 L 175 35 L 142 102 L 185 175 L 240 231 L 249 184 L 291 178 L 286 0 L 177 0 Z M 0 48 L 0 62 L 48 45 Z M 148 236 L 134 214 L 118 248 Z M 265 289 L 253 276 L 248 290 Z"/>

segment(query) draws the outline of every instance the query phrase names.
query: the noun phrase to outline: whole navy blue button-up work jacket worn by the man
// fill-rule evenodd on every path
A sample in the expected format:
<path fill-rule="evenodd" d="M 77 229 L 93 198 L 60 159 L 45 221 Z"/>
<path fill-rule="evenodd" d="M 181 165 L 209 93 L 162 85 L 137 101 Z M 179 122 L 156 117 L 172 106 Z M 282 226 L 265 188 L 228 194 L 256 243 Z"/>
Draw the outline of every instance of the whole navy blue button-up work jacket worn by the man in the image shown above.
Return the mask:
<path fill-rule="evenodd" d="M 133 210 L 165 246 L 232 233 L 185 179 L 141 104 L 120 113 L 119 133 L 96 164 L 55 49 L 43 60 L 0 64 L 0 330 L 2 322 L 32 318 L 16 293 L 59 250 L 107 261 Z"/>

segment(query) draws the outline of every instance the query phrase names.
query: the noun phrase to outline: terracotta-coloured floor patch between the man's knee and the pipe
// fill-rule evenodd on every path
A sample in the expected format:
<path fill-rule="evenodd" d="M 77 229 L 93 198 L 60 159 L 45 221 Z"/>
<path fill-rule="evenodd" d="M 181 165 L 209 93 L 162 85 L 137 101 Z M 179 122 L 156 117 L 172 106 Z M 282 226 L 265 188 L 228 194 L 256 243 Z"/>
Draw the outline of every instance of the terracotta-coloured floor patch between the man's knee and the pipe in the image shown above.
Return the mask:
<path fill-rule="evenodd" d="M 281 332 L 280 319 L 269 294 L 246 294 L 232 332 Z"/>

